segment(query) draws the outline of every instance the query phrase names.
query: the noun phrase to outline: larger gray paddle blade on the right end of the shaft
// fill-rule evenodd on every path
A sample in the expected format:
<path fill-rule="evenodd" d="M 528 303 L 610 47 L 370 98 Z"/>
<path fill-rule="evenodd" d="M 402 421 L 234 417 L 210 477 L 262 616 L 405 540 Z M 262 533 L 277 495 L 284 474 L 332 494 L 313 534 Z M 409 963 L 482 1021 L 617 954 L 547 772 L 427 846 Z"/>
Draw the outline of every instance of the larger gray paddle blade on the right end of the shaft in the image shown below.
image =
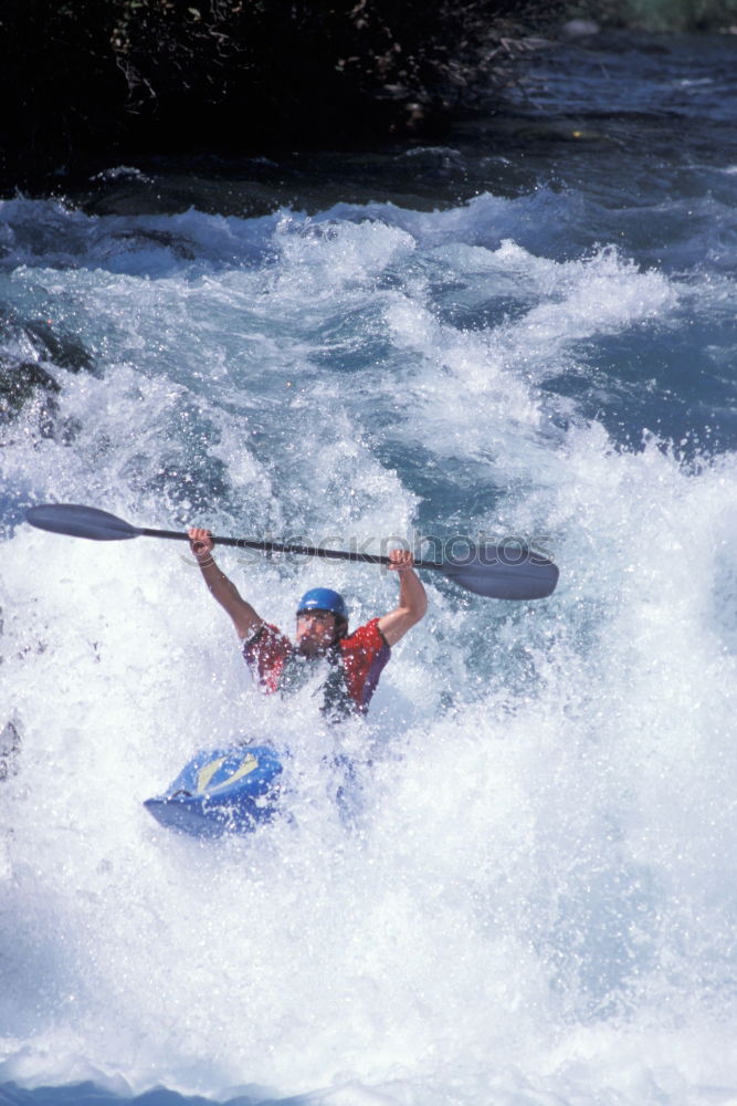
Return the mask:
<path fill-rule="evenodd" d="M 461 587 L 492 599 L 545 599 L 558 583 L 558 567 L 529 549 L 482 545 L 468 557 L 450 559 L 443 573 Z"/>

